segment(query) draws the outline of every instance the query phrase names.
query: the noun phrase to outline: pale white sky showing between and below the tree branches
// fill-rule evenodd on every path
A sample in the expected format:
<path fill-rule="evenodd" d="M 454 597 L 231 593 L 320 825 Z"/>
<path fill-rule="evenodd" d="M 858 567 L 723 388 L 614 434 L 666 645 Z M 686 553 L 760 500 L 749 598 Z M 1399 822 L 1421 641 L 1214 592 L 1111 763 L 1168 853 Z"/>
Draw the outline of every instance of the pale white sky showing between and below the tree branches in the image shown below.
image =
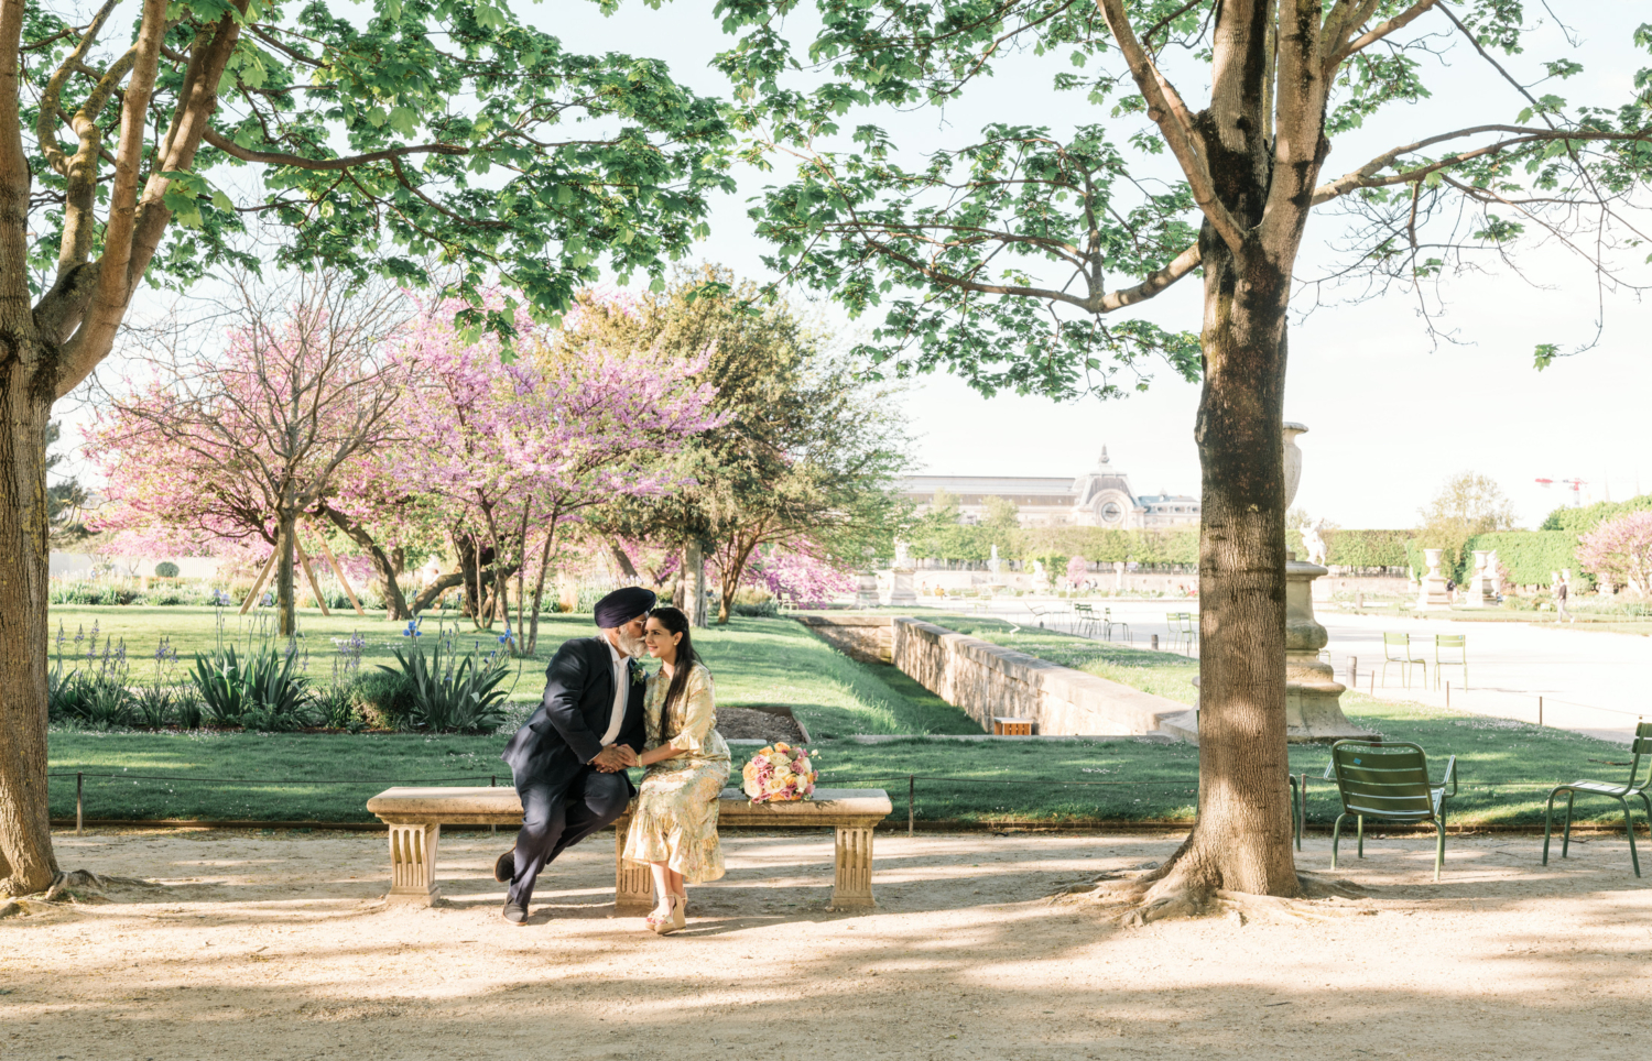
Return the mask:
<path fill-rule="evenodd" d="M 1568 5 L 1571 8 L 1573 5 Z M 1540 35 L 1528 54 L 1510 61 L 1569 54 L 1588 73 L 1559 87 L 1569 99 L 1621 102 L 1629 97 L 1635 69 L 1652 58 L 1629 46 L 1640 20 L 1634 3 L 1591 3 L 1573 26 L 1578 46 Z M 710 56 L 729 46 L 712 18 L 712 0 L 676 0 L 649 10 L 643 0 L 624 0 L 613 18 L 595 3 L 517 3 L 529 21 L 582 51 L 628 51 L 669 63 L 672 74 L 709 94 L 727 94 L 720 74 L 707 68 Z M 1432 15 L 1424 17 L 1424 20 Z M 1419 25 L 1421 21 L 1419 20 Z M 1439 28 L 1439 26 L 1432 26 Z M 801 36 L 801 33 L 800 33 Z M 1512 89 L 1482 74 L 1479 59 L 1462 46 L 1446 54 L 1446 69 L 1431 81 L 1434 99 L 1379 117 L 1346 140 L 1338 140 L 1328 175 L 1341 173 L 1394 144 L 1422 134 L 1480 120 L 1512 120 L 1523 106 Z M 945 116 L 856 114 L 846 125 L 872 120 L 897 130 L 914 152 L 968 144 L 986 122 L 1049 124 L 1070 129 L 1110 119 L 1077 94 L 1049 91 L 1056 68 L 1066 58 L 1011 58 L 1006 74 L 953 104 Z M 1206 87 L 1194 69 L 1171 71 L 1181 78 L 1189 104 L 1203 104 Z M 1117 137 L 1125 130 L 1120 127 Z M 781 175 L 783 177 L 783 175 Z M 738 173 L 740 193 L 717 203 L 712 236 L 700 257 L 730 266 L 743 277 L 767 281 L 763 244 L 750 233 L 745 198 L 778 177 L 753 170 Z M 1338 218 L 1310 223 L 1302 269 L 1327 262 L 1325 248 L 1338 234 Z M 1642 388 L 1652 335 L 1652 312 L 1634 297 L 1609 299 L 1606 328 L 1594 350 L 1558 361 L 1538 373 L 1531 368 L 1536 342 L 1573 348 L 1594 335 L 1594 285 L 1576 259 L 1540 249 L 1521 259 L 1535 284 L 1507 269 L 1447 281 L 1444 327 L 1459 345 L 1434 347 L 1426 335 L 1411 292 L 1393 292 L 1358 305 L 1320 309 L 1294 323 L 1287 419 L 1307 424 L 1298 439 L 1303 450 L 1297 505 L 1313 516 L 1341 526 L 1409 526 L 1416 512 L 1459 470 L 1495 479 L 1515 502 L 1520 518 L 1535 526 L 1551 508 L 1568 500 L 1558 485 L 1583 479 L 1584 502 L 1632 495 L 1647 475 Z M 1639 266 L 1639 279 L 1652 279 Z M 798 292 L 801 295 L 801 292 Z M 828 315 L 844 320 L 833 307 Z M 1143 310 L 1153 320 L 1198 330 L 1199 287 L 1189 277 Z M 864 322 L 862 322 L 864 325 Z M 851 327 L 844 320 L 844 327 Z M 1193 419 L 1198 386 L 1175 378 L 1168 368 L 1153 373 L 1148 393 L 1100 403 L 1052 403 L 1041 398 L 999 394 L 985 399 L 952 376 L 915 381 L 905 394 L 905 413 L 919 437 L 920 470 L 980 475 L 1077 475 L 1089 469 L 1107 444 L 1113 465 L 1130 475 L 1138 493 L 1196 493 L 1198 454 Z M 73 416 L 71 416 L 73 419 Z M 1535 480 L 1551 479 L 1545 490 Z"/>

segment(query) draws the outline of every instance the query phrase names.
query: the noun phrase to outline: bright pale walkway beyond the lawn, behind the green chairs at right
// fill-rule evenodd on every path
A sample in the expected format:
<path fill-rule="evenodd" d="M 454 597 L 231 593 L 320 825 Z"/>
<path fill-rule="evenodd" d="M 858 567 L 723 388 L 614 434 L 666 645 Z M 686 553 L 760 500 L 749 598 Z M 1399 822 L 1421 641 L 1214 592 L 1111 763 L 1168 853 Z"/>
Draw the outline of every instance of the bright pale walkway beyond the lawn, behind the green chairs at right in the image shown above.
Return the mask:
<path fill-rule="evenodd" d="M 1011 622 L 1036 625 L 1032 606 L 1066 606 L 1054 599 L 1016 597 L 995 602 L 993 614 Z M 1146 648 L 1156 634 L 1161 650 L 1188 652 L 1171 635 L 1166 612 L 1196 612 L 1198 601 L 1099 601 L 1097 611 L 1110 607 L 1115 619 L 1130 624 L 1128 644 Z M 1350 667 L 1358 668 L 1361 693 L 1386 700 L 1424 703 L 1444 708 L 1446 685 L 1450 685 L 1450 708 L 1474 714 L 1538 721 L 1538 698 L 1543 700 L 1543 724 L 1586 733 L 1609 741 L 1629 743 L 1639 716 L 1652 716 L 1652 637 L 1637 634 L 1602 634 L 1558 625 L 1526 622 L 1462 622 L 1444 615 L 1394 619 L 1388 615 L 1350 615 L 1330 607 L 1318 612 L 1330 632 L 1330 662 L 1338 681 L 1350 681 Z M 1070 629 L 1067 614 L 1051 614 L 1044 624 Z M 1446 667 L 1436 685 L 1432 644 L 1419 640 L 1417 653 L 1429 658 L 1427 681 L 1422 668 L 1412 668 L 1406 685 L 1398 665 L 1389 665 L 1383 681 L 1383 632 L 1403 630 L 1414 635 L 1465 634 L 1469 647 L 1467 683 L 1460 667 Z M 1123 640 L 1118 632 L 1115 640 Z M 1198 655 L 1198 652 L 1191 652 Z M 1376 686 L 1371 685 L 1373 670 Z M 1467 686 L 1467 688 L 1465 688 Z"/>

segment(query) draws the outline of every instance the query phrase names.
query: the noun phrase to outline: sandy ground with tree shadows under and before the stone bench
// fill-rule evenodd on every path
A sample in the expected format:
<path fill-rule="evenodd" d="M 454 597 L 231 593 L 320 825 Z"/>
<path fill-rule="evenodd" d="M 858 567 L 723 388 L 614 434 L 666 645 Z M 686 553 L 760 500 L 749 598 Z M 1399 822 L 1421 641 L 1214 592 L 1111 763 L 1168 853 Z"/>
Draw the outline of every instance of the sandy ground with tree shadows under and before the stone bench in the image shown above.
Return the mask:
<path fill-rule="evenodd" d="M 1452 838 L 1437 886 L 1427 840 L 1373 840 L 1338 873 L 1370 898 L 1125 929 L 1046 896 L 1173 840 L 879 837 L 881 909 L 849 916 L 829 838 L 732 835 L 672 937 L 611 916 L 606 835 L 507 924 L 501 840 L 444 837 L 448 906 L 387 909 L 382 835 L 61 835 L 66 866 L 159 886 L 0 921 L 0 1058 L 1609 1059 L 1652 1033 L 1621 838 L 1548 868 Z"/>

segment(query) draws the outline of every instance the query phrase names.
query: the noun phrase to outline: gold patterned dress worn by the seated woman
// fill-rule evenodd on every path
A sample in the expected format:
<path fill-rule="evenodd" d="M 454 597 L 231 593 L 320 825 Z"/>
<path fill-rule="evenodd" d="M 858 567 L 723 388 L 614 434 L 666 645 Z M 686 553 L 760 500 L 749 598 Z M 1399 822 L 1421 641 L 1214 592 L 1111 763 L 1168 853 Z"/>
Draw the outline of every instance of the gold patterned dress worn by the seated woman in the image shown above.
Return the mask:
<path fill-rule="evenodd" d="M 624 858 L 634 863 L 662 861 L 686 883 L 699 884 L 724 875 L 717 795 L 729 780 L 729 744 L 715 729 L 712 672 L 695 663 L 682 693 L 662 711 L 669 686 L 664 672 L 648 678 L 643 698 L 646 747 L 671 744 L 684 754 L 648 767 L 636 795 Z"/>

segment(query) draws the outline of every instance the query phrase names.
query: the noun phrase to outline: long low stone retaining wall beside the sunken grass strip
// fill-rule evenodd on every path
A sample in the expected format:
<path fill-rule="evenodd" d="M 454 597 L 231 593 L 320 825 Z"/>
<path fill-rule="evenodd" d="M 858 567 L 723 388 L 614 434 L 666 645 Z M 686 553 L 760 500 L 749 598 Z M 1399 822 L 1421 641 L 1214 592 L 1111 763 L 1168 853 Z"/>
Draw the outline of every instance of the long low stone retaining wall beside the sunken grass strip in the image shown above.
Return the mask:
<path fill-rule="evenodd" d="M 1018 716 L 1046 736 L 1148 734 L 1188 713 L 1173 700 L 919 619 L 894 619 L 892 655 L 895 667 L 988 733 L 993 716 Z"/>

